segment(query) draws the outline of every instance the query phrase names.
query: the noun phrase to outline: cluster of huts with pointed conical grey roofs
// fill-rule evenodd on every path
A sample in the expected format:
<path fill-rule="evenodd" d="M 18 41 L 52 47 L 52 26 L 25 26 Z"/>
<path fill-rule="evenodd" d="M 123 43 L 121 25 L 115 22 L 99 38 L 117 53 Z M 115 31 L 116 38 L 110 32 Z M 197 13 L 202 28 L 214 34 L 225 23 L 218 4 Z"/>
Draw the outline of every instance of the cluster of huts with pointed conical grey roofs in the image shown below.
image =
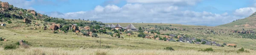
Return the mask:
<path fill-rule="evenodd" d="M 125 30 L 128 30 L 128 31 L 137 31 L 136 27 L 134 27 L 134 25 L 132 24 L 129 24 L 127 25 L 126 27 L 122 27 L 121 25 L 117 24 L 117 25 L 105 25 L 105 27 L 111 27 L 111 28 L 114 28 L 116 30 L 119 30 L 119 29 L 125 29 Z"/>

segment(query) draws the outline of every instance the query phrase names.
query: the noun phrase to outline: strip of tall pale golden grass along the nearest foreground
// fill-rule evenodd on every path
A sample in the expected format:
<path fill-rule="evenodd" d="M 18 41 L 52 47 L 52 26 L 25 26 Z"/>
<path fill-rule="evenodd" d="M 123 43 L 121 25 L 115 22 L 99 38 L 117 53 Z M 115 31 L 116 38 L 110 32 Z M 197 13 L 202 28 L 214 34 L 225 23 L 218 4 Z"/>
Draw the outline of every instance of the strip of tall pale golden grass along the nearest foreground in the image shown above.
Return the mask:
<path fill-rule="evenodd" d="M 29 49 L 18 48 L 16 50 L 3 50 L 0 55 L 255 55 L 255 52 L 200 52 L 196 50 L 140 50 L 140 49 L 75 49 L 33 47 Z"/>

